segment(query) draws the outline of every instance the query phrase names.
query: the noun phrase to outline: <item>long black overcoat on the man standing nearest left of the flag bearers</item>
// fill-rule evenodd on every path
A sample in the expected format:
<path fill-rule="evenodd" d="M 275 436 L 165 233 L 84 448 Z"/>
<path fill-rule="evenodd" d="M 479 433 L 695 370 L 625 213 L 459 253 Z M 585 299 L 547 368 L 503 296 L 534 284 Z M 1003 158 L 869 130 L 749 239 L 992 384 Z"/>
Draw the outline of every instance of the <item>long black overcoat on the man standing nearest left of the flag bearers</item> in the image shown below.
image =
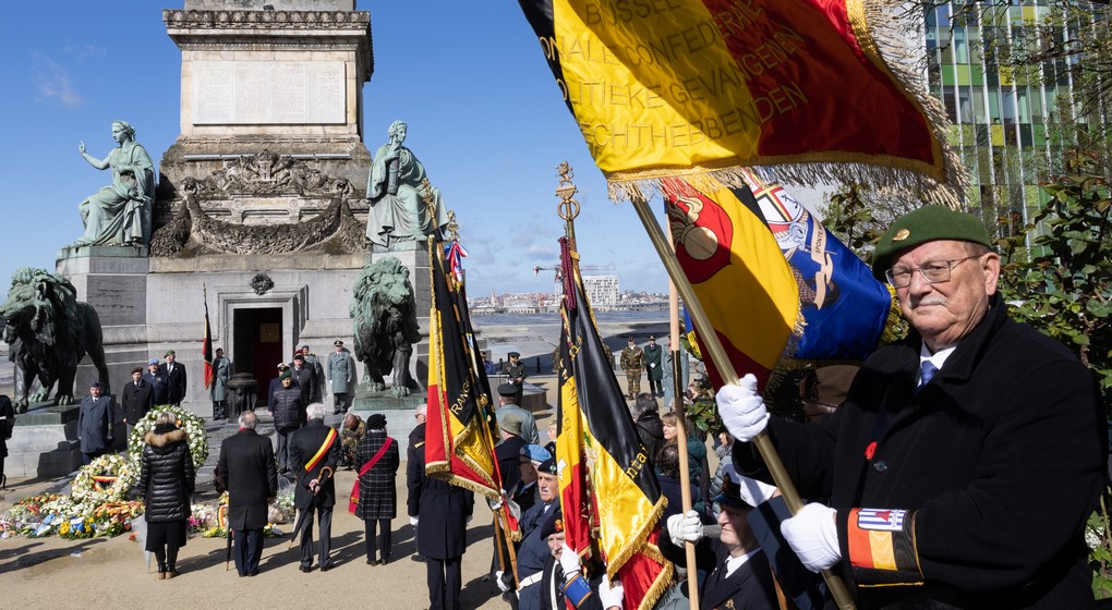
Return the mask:
<path fill-rule="evenodd" d="M 416 442 L 414 442 L 416 439 Z M 425 424 L 409 434 L 409 517 L 417 517 L 417 552 L 430 559 L 463 557 L 467 550 L 467 518 L 475 496 L 461 487 L 425 476 Z"/>

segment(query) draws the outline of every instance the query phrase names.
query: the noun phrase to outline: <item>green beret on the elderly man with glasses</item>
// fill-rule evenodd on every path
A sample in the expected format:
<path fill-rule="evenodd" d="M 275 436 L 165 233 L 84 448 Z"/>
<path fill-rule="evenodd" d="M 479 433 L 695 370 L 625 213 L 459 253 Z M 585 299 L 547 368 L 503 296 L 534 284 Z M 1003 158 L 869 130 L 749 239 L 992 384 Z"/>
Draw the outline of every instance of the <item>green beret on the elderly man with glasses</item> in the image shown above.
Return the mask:
<path fill-rule="evenodd" d="M 884 272 L 900 252 L 939 239 L 972 241 L 992 248 L 989 231 L 977 217 L 945 206 L 924 206 L 897 218 L 881 236 L 873 251 L 873 277 L 884 281 Z"/>

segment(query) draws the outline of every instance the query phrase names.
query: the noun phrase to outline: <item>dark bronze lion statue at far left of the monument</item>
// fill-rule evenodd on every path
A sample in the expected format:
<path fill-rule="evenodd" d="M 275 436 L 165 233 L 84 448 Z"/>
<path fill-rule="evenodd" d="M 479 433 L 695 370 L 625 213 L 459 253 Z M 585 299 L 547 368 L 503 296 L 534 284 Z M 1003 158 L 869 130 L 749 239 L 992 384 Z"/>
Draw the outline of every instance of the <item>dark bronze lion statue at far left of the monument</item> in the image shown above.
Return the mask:
<path fill-rule="evenodd" d="M 105 394 L 111 392 L 100 318 L 89 303 L 77 300 L 73 284 L 62 276 L 28 267 L 16 270 L 0 319 L 8 359 L 18 369 L 14 402 L 19 412 L 26 412 L 31 402 L 48 400 L 56 381 L 54 404 L 71 404 L 77 366 L 87 353 Z M 42 388 L 32 394 L 36 379 Z"/>

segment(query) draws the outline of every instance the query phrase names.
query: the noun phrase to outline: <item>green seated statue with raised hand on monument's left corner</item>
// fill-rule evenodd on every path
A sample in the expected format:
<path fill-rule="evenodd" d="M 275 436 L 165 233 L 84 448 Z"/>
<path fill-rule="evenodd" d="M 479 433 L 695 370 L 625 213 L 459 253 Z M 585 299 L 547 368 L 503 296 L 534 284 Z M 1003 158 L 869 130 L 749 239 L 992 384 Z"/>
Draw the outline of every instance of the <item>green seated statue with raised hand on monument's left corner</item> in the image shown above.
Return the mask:
<path fill-rule="evenodd" d="M 73 246 L 146 246 L 150 239 L 155 202 L 155 163 L 135 141 L 136 130 L 127 121 L 112 122 L 112 139 L 119 144 L 103 159 L 78 146 L 81 157 L 97 169 L 112 170 L 112 183 L 78 206 L 85 233 Z"/>

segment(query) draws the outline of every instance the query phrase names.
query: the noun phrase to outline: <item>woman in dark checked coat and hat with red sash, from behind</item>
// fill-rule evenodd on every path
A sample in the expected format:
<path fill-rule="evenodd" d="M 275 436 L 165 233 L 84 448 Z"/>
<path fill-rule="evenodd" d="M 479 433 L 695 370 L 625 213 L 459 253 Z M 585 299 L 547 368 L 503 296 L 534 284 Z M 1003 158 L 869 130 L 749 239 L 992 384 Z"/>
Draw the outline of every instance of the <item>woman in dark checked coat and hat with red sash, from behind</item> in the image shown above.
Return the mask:
<path fill-rule="evenodd" d="M 383 448 L 386 448 L 383 450 Z M 379 451 L 381 454 L 379 456 Z M 366 472 L 364 466 L 378 456 L 378 460 Z M 398 443 L 386 436 L 386 417 L 374 413 L 367 418 L 367 431 L 359 439 L 355 450 L 355 468 L 359 474 L 359 506 L 355 516 L 364 521 L 367 544 L 367 564 L 386 564 L 390 560 L 390 521 L 398 516 L 398 492 L 395 479 L 398 474 Z M 376 544 L 376 530 L 381 528 L 381 560 Z"/>

